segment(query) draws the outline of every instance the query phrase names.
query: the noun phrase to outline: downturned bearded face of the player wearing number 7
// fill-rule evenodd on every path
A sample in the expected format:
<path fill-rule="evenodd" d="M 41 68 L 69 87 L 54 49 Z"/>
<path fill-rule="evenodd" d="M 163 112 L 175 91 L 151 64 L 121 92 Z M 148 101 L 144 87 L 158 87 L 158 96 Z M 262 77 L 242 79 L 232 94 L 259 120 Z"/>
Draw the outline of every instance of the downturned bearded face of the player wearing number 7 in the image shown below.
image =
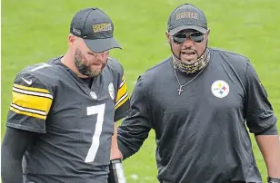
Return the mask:
<path fill-rule="evenodd" d="M 109 51 L 103 53 L 92 52 L 82 39 L 77 40 L 75 46 L 74 60 L 78 71 L 85 76 L 95 77 L 103 71 Z"/>

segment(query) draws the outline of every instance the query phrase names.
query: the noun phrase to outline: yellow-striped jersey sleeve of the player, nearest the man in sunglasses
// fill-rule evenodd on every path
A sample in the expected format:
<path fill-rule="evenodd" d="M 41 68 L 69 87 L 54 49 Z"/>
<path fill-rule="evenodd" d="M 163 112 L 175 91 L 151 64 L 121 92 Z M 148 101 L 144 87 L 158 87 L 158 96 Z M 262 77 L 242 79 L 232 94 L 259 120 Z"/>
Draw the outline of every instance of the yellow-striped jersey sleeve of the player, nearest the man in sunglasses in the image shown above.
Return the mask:
<path fill-rule="evenodd" d="M 115 99 L 115 121 L 125 117 L 130 108 L 130 101 L 127 92 L 124 72 L 122 71 L 118 77 L 118 86 Z"/>

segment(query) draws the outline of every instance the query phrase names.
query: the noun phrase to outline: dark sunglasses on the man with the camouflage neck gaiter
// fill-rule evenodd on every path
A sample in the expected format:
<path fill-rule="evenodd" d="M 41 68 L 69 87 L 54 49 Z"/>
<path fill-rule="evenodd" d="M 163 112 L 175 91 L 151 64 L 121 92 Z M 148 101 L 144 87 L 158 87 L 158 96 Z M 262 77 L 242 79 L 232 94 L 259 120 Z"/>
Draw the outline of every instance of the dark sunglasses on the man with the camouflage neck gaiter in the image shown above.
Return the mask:
<path fill-rule="evenodd" d="M 181 44 L 184 43 L 185 40 L 189 37 L 191 40 L 193 40 L 195 43 L 201 43 L 204 40 L 204 35 L 200 32 L 193 32 L 193 33 L 188 33 L 188 34 L 184 34 L 184 33 L 177 33 L 175 35 L 173 35 L 173 41 L 176 44 Z"/>

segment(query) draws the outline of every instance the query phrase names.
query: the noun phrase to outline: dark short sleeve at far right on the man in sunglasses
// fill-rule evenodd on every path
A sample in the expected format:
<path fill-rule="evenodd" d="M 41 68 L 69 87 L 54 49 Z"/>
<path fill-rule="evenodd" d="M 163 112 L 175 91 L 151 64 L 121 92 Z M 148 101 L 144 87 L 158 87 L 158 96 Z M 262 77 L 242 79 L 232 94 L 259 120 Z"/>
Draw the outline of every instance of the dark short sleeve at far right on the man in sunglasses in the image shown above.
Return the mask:
<path fill-rule="evenodd" d="M 250 132 L 261 133 L 274 126 L 277 119 L 265 87 L 250 63 L 247 65 L 246 77 L 246 123 Z"/>

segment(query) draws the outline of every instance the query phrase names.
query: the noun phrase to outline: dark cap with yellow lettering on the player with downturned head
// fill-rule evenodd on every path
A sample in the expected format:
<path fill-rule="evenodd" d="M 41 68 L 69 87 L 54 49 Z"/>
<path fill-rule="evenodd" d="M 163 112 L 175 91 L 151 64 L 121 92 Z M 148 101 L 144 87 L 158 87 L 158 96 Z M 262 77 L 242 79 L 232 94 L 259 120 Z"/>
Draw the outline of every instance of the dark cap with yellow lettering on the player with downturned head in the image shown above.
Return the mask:
<path fill-rule="evenodd" d="M 70 33 L 83 38 L 87 47 L 95 53 L 102 53 L 112 48 L 122 49 L 113 37 L 112 20 L 97 7 L 89 7 L 77 12 L 72 19 Z"/>

